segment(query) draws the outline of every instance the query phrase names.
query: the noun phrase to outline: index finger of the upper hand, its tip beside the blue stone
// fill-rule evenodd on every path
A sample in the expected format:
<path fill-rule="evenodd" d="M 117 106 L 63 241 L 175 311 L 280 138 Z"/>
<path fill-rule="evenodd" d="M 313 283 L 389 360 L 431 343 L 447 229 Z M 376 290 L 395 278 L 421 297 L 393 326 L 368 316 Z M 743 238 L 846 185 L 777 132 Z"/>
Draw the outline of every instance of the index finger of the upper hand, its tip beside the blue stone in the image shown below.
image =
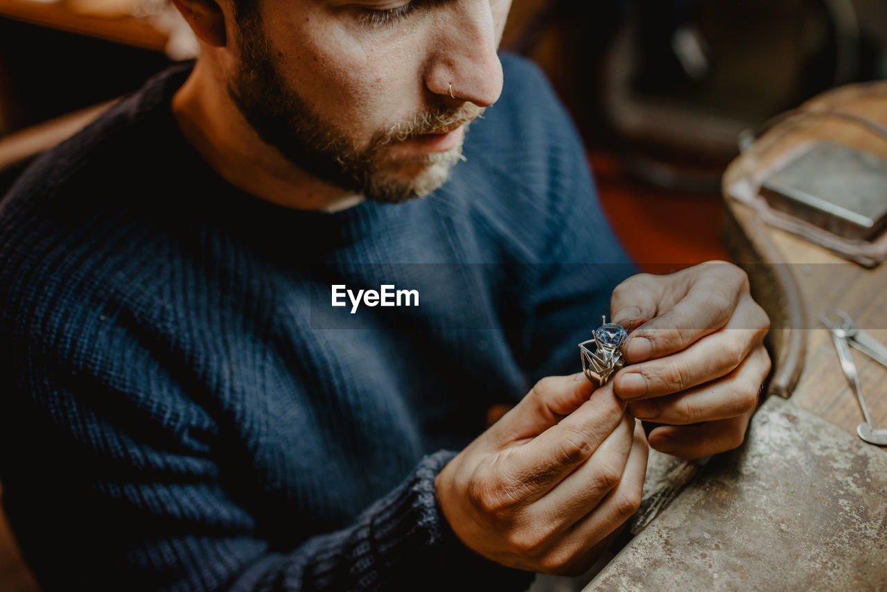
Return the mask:
<path fill-rule="evenodd" d="M 748 277 L 734 265 L 703 265 L 691 280 L 676 304 L 660 305 L 658 316 L 632 331 L 624 347 L 625 361 L 635 364 L 684 350 L 725 327 L 743 300 L 754 304 L 748 296 Z"/>

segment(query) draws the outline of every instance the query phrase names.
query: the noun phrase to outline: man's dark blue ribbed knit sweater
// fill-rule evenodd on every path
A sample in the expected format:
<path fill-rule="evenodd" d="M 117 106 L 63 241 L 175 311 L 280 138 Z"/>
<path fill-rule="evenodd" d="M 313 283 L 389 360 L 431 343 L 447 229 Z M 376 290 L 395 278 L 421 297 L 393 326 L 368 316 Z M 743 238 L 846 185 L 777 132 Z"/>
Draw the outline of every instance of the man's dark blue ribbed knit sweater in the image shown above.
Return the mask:
<path fill-rule="evenodd" d="M 434 478 L 632 272 L 535 67 L 427 198 L 337 213 L 228 185 L 174 67 L 0 202 L 0 480 L 43 588 L 521 590 Z M 418 305 L 333 306 L 334 286 Z M 413 303 L 411 303 L 413 304 Z"/>

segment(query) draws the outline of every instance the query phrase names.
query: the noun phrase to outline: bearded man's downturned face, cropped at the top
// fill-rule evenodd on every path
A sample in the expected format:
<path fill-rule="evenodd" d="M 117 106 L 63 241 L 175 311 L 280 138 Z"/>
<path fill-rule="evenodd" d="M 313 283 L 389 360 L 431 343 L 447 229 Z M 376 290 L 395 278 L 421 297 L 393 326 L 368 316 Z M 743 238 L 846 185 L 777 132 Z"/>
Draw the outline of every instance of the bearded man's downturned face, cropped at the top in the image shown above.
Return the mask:
<path fill-rule="evenodd" d="M 291 162 L 367 199 L 442 185 L 501 91 L 511 0 L 247 2 L 234 103 Z"/>

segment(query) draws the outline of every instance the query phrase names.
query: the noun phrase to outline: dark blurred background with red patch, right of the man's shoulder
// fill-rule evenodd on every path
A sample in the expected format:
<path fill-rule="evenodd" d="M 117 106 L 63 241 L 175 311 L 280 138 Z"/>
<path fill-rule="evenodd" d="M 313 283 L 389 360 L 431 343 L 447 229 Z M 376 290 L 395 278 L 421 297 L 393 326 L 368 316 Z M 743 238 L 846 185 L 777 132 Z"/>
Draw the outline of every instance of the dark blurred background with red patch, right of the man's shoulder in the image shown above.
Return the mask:
<path fill-rule="evenodd" d="M 546 69 L 610 222 L 664 272 L 728 258 L 720 177 L 743 131 L 887 78 L 887 2 L 516 0 L 504 44 Z"/>

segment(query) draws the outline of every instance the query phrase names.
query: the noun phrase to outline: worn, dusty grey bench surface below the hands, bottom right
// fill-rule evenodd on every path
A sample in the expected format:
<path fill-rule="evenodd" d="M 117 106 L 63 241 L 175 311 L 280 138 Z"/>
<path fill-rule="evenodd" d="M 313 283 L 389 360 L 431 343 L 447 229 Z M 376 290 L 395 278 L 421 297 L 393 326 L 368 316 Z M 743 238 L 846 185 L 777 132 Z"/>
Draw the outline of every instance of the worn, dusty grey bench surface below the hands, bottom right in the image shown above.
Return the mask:
<path fill-rule="evenodd" d="M 585 588 L 887 590 L 887 452 L 771 398 Z"/>

